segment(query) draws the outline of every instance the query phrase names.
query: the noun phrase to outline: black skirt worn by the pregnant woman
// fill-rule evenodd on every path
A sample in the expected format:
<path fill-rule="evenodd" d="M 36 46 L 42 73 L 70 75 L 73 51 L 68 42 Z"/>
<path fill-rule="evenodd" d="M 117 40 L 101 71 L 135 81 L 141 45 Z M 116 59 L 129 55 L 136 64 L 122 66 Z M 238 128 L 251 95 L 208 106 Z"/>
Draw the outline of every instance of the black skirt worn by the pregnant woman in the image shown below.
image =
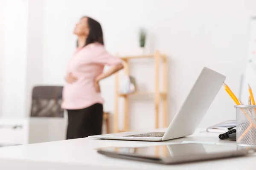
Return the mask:
<path fill-rule="evenodd" d="M 96 103 L 88 108 L 67 110 L 67 139 L 102 134 L 103 106 Z"/>

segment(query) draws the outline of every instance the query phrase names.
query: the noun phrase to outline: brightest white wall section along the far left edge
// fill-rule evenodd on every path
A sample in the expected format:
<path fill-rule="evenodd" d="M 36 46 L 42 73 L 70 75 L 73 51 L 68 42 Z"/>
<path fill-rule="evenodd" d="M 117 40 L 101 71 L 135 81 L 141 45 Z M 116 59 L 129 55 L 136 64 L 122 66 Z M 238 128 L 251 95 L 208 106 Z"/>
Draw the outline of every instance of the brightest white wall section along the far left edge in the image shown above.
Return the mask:
<path fill-rule="evenodd" d="M 2 116 L 22 117 L 26 112 L 26 59 L 28 1 L 4 0 Z"/>

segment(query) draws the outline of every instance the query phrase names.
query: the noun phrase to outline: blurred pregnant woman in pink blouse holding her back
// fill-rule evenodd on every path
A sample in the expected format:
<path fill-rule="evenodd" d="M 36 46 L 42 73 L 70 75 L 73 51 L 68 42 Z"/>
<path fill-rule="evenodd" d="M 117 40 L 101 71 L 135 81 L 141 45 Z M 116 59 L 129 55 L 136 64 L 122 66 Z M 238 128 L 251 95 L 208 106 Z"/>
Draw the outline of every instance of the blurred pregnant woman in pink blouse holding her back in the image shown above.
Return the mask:
<path fill-rule="evenodd" d="M 99 81 L 123 68 L 121 59 L 105 50 L 99 22 L 82 17 L 73 33 L 78 37 L 77 49 L 68 64 L 62 103 L 68 113 L 67 139 L 102 133 L 103 99 Z M 105 65 L 111 68 L 103 73 Z"/>

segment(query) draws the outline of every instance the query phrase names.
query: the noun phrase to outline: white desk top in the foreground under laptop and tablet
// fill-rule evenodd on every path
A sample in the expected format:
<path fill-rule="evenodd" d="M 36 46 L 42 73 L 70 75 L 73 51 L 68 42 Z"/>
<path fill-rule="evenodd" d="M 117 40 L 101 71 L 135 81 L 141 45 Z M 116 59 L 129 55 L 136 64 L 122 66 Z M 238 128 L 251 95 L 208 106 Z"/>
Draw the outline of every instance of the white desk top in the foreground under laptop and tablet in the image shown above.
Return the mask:
<path fill-rule="evenodd" d="M 179 165 L 160 165 L 108 158 L 96 153 L 95 150 L 97 147 L 145 146 L 182 141 L 221 142 L 223 144 L 236 145 L 236 142 L 220 141 L 217 133 L 195 133 L 192 136 L 165 142 L 111 141 L 90 138 L 73 139 L 0 148 L 0 169 L 17 170 L 18 168 L 18 170 L 33 170 L 36 167 L 37 170 L 255 170 L 256 155 Z"/>

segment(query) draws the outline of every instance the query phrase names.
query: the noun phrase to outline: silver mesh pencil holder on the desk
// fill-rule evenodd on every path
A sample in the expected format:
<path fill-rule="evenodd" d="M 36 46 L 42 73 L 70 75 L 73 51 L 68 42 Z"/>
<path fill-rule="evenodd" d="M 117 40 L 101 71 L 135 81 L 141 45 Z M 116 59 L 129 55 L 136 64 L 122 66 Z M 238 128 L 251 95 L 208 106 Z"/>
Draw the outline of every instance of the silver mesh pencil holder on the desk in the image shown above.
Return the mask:
<path fill-rule="evenodd" d="M 256 105 L 236 105 L 236 144 L 256 147 Z"/>

